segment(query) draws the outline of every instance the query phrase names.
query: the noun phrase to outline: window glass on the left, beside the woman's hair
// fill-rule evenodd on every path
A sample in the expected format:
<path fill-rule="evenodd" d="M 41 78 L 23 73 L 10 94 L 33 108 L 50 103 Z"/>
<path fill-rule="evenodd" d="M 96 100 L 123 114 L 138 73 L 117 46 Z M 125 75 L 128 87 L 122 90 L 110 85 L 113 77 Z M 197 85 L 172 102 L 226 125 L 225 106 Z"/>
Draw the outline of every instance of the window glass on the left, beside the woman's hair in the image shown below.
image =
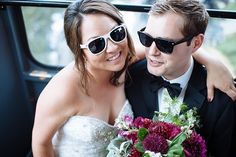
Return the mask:
<path fill-rule="evenodd" d="M 30 51 L 43 64 L 64 66 L 73 59 L 63 33 L 64 10 L 22 7 Z"/>

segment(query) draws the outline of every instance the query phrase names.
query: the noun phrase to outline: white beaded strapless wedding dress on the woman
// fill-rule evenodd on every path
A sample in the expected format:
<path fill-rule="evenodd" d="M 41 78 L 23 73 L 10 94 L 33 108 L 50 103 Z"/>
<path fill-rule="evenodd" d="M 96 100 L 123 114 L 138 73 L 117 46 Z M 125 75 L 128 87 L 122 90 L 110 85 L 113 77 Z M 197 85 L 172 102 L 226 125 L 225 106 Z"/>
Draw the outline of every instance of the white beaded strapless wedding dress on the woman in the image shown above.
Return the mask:
<path fill-rule="evenodd" d="M 133 112 L 128 100 L 117 118 Z M 115 125 L 89 116 L 72 116 L 52 139 L 56 157 L 105 157 L 109 142 L 118 133 Z"/>

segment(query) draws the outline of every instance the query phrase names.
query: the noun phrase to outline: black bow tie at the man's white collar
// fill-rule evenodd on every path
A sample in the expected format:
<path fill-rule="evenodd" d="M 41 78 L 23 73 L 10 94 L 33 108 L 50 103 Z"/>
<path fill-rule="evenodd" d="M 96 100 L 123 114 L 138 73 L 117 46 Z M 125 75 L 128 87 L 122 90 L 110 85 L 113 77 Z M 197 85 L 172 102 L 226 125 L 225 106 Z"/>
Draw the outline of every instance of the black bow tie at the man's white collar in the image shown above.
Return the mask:
<path fill-rule="evenodd" d="M 160 88 L 164 87 L 167 89 L 172 99 L 180 95 L 182 88 L 179 83 L 170 83 L 169 81 L 165 81 L 162 77 L 152 77 L 153 80 L 150 82 L 152 92 L 157 92 Z"/>

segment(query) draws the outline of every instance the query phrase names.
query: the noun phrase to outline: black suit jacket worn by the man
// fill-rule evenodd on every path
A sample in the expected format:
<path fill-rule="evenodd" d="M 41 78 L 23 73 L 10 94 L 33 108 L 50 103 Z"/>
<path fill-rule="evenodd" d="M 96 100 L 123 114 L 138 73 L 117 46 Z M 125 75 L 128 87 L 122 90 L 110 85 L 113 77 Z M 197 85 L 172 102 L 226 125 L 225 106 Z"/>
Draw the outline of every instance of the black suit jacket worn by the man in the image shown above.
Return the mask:
<path fill-rule="evenodd" d="M 129 68 L 131 79 L 126 82 L 126 96 L 132 105 L 134 116 L 152 118 L 158 110 L 158 95 L 150 90 L 154 79 L 148 73 L 146 60 Z M 212 102 L 207 101 L 206 70 L 194 61 L 194 68 L 184 102 L 189 108 L 197 107 L 202 127 L 198 132 L 207 143 L 208 153 L 217 157 L 236 156 L 236 102 L 215 89 Z"/>

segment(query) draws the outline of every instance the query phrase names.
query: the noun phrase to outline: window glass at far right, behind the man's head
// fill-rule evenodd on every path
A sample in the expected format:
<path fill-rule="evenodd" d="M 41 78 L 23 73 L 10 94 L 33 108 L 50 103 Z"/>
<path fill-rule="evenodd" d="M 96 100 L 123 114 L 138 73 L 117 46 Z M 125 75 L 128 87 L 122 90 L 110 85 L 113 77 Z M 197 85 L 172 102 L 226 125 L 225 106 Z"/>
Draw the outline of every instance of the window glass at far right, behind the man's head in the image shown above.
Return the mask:
<path fill-rule="evenodd" d="M 236 19 L 210 18 L 203 48 L 236 76 Z"/>

